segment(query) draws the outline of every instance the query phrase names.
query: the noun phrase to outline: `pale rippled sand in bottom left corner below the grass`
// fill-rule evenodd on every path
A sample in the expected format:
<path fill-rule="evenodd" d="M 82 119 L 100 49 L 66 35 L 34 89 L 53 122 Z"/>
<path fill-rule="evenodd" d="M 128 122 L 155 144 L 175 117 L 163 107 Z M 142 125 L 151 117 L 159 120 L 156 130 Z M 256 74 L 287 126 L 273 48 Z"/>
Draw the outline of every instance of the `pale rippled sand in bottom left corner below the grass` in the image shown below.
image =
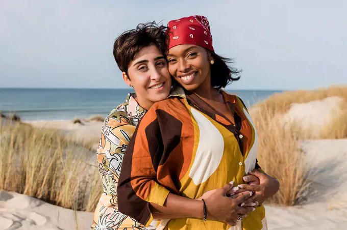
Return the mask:
<path fill-rule="evenodd" d="M 79 229 L 89 229 L 92 213 L 77 212 Z M 76 229 L 74 212 L 15 192 L 0 191 L 0 229 Z"/>

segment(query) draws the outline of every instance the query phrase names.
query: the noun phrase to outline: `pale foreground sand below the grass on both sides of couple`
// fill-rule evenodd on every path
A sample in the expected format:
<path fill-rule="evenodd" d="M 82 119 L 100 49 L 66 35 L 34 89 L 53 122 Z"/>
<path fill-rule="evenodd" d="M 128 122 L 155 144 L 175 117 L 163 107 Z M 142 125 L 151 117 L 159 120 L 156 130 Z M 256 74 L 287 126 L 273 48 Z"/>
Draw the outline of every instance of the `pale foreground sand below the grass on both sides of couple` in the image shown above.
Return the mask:
<path fill-rule="evenodd" d="M 268 229 L 345 229 L 347 139 L 305 141 L 302 147 L 307 151 L 308 161 L 317 157 L 323 164 L 315 178 L 315 195 L 301 206 L 266 205 Z M 89 229 L 91 212 L 74 213 L 26 195 L 0 192 L 1 229 L 76 229 L 75 214 L 79 229 Z"/>

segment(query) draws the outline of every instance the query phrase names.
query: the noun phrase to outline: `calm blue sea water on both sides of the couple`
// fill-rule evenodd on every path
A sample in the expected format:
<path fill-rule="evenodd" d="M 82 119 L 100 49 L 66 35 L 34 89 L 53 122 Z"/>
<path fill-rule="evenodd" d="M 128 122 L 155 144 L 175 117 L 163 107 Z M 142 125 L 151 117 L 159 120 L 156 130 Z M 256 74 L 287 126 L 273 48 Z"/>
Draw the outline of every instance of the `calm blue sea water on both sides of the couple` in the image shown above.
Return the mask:
<path fill-rule="evenodd" d="M 0 89 L 0 111 L 22 120 L 65 120 L 106 116 L 132 90 L 126 89 Z M 235 90 L 252 105 L 280 91 Z"/>

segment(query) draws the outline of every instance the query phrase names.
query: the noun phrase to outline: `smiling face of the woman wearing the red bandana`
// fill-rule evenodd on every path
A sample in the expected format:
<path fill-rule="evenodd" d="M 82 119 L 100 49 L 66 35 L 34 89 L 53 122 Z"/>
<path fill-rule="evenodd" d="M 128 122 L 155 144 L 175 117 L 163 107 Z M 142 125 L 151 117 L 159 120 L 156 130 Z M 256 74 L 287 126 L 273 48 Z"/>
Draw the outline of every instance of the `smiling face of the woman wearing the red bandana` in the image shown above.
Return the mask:
<path fill-rule="evenodd" d="M 207 50 L 197 45 L 177 45 L 167 54 L 170 74 L 186 90 L 211 87 L 210 60 Z"/>

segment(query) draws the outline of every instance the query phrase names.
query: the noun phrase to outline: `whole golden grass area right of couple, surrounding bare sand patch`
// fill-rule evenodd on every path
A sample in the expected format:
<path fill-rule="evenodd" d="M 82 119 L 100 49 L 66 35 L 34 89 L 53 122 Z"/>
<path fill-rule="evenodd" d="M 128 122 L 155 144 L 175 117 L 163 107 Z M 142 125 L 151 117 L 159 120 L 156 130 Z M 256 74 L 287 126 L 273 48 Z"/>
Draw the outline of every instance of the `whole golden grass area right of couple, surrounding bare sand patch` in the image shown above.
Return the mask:
<path fill-rule="evenodd" d="M 343 99 L 336 108 L 332 121 L 318 134 L 304 130 L 299 124 L 285 124 L 281 114 L 291 103 L 307 103 L 338 96 Z M 300 141 L 312 138 L 347 138 L 347 87 L 331 87 L 316 91 L 295 91 L 273 95 L 256 104 L 251 115 L 259 136 L 258 160 L 263 170 L 277 178 L 279 192 L 269 203 L 291 206 L 300 203 L 309 195 L 314 165 L 305 159 Z"/>

